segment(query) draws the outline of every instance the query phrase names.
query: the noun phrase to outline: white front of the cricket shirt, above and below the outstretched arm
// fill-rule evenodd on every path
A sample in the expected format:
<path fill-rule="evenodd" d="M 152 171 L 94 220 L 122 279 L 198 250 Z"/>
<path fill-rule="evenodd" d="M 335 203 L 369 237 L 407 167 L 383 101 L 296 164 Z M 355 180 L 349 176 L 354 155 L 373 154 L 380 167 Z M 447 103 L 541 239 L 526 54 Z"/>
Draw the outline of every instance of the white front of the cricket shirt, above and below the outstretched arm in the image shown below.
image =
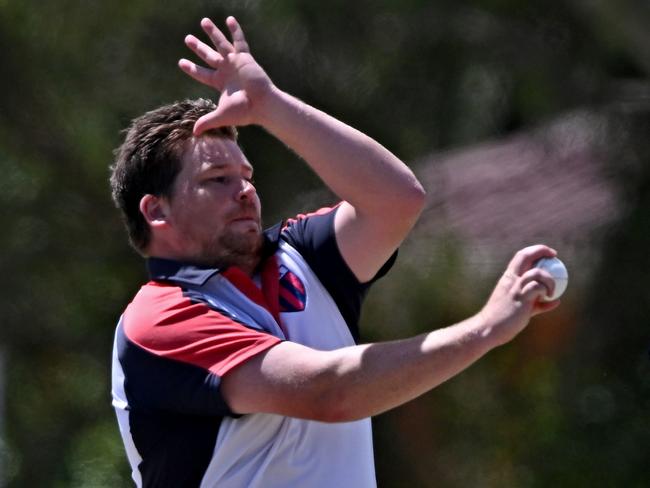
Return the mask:
<path fill-rule="evenodd" d="M 341 313 L 302 256 L 286 242 L 278 265 L 302 281 L 307 295 L 300 312 L 281 314 L 286 339 L 320 350 L 354 344 Z M 221 279 L 224 279 L 221 277 Z M 247 316 L 278 337 L 271 314 L 234 286 L 219 286 L 217 303 Z M 268 327 L 268 328 L 267 328 Z M 376 487 L 370 419 L 324 423 L 271 414 L 224 418 L 201 488 Z"/>

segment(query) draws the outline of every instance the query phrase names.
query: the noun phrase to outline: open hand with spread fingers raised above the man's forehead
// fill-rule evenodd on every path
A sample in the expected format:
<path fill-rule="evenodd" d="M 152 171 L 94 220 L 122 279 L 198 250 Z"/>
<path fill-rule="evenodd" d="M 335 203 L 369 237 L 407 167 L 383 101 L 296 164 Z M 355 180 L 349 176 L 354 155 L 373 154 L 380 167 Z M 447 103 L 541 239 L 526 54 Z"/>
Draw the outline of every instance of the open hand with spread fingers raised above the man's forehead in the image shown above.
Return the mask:
<path fill-rule="evenodd" d="M 216 127 L 258 122 L 260 106 L 273 89 L 273 82 L 250 54 L 237 20 L 228 17 L 226 25 L 232 42 L 210 19 L 201 21 L 201 27 L 210 37 L 214 48 L 193 35 L 185 38 L 187 47 L 208 65 L 207 68 L 187 59 L 178 62 L 189 76 L 221 92 L 216 110 L 196 121 L 195 135 Z"/>

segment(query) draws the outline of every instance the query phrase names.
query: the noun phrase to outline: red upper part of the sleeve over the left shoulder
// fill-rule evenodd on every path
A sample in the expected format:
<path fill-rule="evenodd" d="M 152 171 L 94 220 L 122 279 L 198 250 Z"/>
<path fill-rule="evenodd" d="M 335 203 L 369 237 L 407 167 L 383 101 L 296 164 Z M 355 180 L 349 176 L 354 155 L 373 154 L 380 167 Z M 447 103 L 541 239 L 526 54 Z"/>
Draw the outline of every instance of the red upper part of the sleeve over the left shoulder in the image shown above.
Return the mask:
<path fill-rule="evenodd" d="M 280 342 L 192 302 L 177 286 L 150 282 L 124 313 L 124 333 L 147 351 L 223 376 Z"/>

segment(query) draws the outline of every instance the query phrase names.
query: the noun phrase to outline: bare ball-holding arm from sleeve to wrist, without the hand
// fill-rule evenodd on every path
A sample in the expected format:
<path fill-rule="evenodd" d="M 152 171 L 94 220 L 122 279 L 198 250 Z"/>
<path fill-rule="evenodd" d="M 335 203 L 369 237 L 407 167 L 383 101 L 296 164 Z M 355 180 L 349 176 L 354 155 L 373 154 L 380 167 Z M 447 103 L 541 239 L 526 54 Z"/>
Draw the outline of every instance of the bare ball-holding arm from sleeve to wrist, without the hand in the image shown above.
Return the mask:
<path fill-rule="evenodd" d="M 429 391 L 496 345 L 477 317 L 413 338 L 315 351 L 282 343 L 254 359 L 231 395 L 240 412 L 265 411 L 326 422 L 376 415 Z M 258 362 L 259 361 L 259 362 Z M 257 364 L 255 364 L 258 362 Z M 244 377 L 242 375 L 242 377 Z M 244 399 L 243 403 L 238 401 Z"/>

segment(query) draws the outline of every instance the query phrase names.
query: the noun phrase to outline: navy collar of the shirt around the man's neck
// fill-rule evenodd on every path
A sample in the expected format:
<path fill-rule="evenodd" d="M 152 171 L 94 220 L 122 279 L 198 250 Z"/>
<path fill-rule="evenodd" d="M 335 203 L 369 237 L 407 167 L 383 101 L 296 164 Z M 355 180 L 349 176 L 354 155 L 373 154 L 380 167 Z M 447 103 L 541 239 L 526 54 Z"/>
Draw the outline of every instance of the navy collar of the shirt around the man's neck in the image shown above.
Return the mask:
<path fill-rule="evenodd" d="M 277 251 L 282 227 L 283 222 L 279 222 L 264 231 L 262 262 L 273 256 Z M 225 271 L 220 268 L 157 257 L 147 258 L 146 265 L 149 277 L 154 281 L 173 281 L 195 286 L 203 286 L 212 276 Z"/>

